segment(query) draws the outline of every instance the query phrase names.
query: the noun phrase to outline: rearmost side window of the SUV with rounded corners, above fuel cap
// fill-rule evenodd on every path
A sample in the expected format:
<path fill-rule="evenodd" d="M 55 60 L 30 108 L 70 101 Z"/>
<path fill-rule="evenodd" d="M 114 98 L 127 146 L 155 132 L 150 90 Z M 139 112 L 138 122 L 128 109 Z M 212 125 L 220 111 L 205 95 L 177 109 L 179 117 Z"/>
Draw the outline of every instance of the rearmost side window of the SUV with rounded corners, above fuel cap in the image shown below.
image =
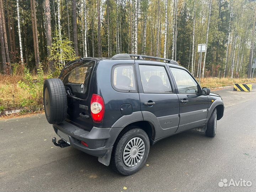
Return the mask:
<path fill-rule="evenodd" d="M 112 86 L 117 91 L 137 92 L 134 65 L 120 64 L 112 69 Z"/>

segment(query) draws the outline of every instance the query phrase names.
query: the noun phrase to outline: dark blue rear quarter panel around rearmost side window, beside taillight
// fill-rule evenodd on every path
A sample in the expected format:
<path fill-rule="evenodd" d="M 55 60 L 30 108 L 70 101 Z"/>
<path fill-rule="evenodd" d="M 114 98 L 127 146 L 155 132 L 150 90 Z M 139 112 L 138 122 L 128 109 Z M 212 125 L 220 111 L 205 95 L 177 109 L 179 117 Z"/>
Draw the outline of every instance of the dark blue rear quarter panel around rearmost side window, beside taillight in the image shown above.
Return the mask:
<path fill-rule="evenodd" d="M 102 96 L 105 103 L 105 115 L 102 123 L 95 123 L 95 127 L 112 127 L 119 118 L 123 117 L 121 114 L 121 105 L 123 104 L 131 104 L 132 112 L 139 112 L 141 115 L 137 115 L 137 117 L 142 118 L 139 93 L 119 92 L 114 90 L 111 85 L 111 71 L 116 64 L 134 64 L 134 60 L 101 60 L 98 62 L 93 93 Z M 127 117 L 132 115 L 127 115 Z"/>

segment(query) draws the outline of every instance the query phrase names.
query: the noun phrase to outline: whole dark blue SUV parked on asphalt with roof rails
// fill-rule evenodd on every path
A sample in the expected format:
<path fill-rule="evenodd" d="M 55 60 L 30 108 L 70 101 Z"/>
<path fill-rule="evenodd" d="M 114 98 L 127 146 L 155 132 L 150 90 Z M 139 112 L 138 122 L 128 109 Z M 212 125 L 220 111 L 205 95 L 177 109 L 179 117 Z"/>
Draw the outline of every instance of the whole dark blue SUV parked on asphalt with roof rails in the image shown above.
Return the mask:
<path fill-rule="evenodd" d="M 69 62 L 59 79 L 45 81 L 43 95 L 46 118 L 61 138 L 53 143 L 97 156 L 123 175 L 140 170 L 161 139 L 188 129 L 214 137 L 224 112 L 222 98 L 187 69 L 146 55 Z"/>

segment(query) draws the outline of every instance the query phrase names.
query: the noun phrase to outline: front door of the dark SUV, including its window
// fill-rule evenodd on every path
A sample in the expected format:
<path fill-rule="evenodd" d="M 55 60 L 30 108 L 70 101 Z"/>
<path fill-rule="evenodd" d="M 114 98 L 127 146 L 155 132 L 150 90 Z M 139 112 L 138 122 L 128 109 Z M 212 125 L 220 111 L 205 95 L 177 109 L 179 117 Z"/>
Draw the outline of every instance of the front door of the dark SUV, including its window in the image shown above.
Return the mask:
<path fill-rule="evenodd" d="M 170 67 L 180 102 L 180 124 L 177 132 L 202 126 L 208 114 L 208 97 L 188 71 Z"/>

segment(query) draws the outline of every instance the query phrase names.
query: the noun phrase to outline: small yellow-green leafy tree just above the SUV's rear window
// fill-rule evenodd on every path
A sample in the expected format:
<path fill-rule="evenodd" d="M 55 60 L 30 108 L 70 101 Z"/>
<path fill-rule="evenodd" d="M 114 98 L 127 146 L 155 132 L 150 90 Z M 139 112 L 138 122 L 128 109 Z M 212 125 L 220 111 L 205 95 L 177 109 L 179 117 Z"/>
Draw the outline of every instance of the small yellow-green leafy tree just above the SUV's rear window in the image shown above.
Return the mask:
<path fill-rule="evenodd" d="M 53 37 L 49 57 L 49 60 L 54 61 L 54 76 L 57 76 L 60 73 L 65 66 L 65 63 L 78 59 L 78 57 L 75 55 L 73 47 L 71 47 L 71 44 L 72 42 L 65 37 L 60 40 L 58 31 L 55 30 L 55 36 Z"/>

